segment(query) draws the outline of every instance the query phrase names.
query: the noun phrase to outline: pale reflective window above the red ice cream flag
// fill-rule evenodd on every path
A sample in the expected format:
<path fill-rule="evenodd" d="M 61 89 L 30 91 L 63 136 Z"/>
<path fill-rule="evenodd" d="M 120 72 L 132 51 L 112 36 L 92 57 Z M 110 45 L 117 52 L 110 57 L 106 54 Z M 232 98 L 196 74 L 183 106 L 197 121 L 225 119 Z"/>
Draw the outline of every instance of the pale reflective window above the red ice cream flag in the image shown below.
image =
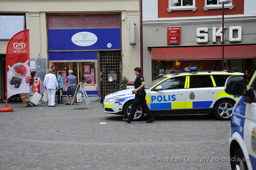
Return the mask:
<path fill-rule="evenodd" d="M 0 14 L 0 41 L 8 41 L 25 28 L 25 15 Z"/>

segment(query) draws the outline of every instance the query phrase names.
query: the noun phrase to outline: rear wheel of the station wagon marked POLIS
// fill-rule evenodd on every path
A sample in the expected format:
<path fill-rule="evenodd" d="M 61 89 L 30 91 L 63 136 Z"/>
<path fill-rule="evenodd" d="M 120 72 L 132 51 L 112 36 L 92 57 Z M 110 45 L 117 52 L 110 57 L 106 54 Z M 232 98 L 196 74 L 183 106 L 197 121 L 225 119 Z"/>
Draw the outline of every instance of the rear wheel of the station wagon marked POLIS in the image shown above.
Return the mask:
<path fill-rule="evenodd" d="M 234 101 L 221 100 L 214 106 L 214 115 L 219 120 L 230 120 L 234 105 Z"/>

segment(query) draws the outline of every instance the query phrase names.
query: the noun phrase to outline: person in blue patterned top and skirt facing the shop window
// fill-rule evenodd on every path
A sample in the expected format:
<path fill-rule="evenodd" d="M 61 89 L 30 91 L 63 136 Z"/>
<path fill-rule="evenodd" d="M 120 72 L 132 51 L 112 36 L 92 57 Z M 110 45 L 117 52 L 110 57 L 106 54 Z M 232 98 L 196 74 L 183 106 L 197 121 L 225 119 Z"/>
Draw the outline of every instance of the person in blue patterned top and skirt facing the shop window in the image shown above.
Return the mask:
<path fill-rule="evenodd" d="M 68 91 L 67 91 L 68 103 L 66 103 L 66 105 L 70 104 L 69 95 L 71 95 L 71 102 L 72 102 L 76 92 L 76 76 L 74 76 L 73 73 L 74 72 L 72 70 L 68 70 L 68 77 L 66 79 L 66 83 L 68 83 Z"/>

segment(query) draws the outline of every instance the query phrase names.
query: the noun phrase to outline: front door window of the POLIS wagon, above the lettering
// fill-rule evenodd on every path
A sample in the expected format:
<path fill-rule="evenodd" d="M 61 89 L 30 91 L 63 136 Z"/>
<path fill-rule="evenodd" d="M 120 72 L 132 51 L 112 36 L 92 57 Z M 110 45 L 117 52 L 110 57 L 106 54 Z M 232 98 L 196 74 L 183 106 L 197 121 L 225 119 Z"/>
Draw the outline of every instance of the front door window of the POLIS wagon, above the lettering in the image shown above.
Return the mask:
<path fill-rule="evenodd" d="M 163 90 L 170 89 L 183 89 L 185 86 L 186 76 L 175 77 L 168 79 L 160 84 L 163 87 Z"/>

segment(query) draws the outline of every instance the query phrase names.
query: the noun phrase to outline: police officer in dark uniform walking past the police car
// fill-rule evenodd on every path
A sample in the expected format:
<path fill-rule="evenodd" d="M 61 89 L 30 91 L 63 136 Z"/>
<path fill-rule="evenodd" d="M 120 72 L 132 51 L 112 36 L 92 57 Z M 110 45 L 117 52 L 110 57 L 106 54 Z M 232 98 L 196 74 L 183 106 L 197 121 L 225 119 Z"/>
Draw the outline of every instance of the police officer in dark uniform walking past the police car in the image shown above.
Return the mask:
<path fill-rule="evenodd" d="M 131 120 L 134 118 L 134 114 L 137 110 L 137 107 L 140 105 L 142 108 L 142 111 L 147 114 L 149 117 L 149 120 L 147 120 L 147 123 L 151 123 L 155 121 L 153 114 L 148 108 L 147 102 L 146 102 L 146 92 L 144 89 L 145 86 L 145 81 L 144 77 L 140 74 L 141 73 L 141 68 L 136 67 L 134 68 L 134 73 L 137 75 L 135 81 L 134 81 L 134 90 L 132 90 L 132 93 L 135 94 L 135 98 L 133 100 L 132 108 L 130 110 L 130 114 L 128 116 L 128 119 L 123 118 L 124 121 L 127 123 L 131 123 Z"/>

